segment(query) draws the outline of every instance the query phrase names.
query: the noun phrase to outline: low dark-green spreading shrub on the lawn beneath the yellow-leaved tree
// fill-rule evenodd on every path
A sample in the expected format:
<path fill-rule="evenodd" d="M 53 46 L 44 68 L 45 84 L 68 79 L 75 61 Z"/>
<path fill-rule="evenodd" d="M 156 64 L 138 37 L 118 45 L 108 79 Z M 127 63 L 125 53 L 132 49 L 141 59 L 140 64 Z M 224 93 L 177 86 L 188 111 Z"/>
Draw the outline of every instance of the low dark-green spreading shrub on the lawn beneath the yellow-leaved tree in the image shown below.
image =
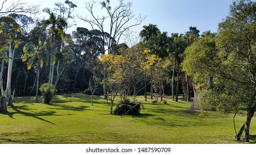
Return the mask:
<path fill-rule="evenodd" d="M 115 115 L 138 115 L 144 106 L 140 102 L 124 99 L 119 101 L 114 110 Z"/>

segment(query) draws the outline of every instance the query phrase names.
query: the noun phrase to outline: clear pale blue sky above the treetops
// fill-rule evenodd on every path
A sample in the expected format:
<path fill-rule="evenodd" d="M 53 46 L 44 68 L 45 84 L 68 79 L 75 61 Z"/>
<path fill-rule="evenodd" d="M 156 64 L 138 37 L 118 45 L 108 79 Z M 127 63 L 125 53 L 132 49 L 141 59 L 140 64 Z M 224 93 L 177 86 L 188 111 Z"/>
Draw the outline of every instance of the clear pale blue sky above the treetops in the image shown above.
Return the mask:
<path fill-rule="evenodd" d="M 54 2 L 64 1 L 65 0 L 25 0 L 26 3 L 40 4 L 41 9 L 45 7 L 54 8 Z M 78 8 L 75 9 L 76 14 L 85 17 L 85 1 L 70 1 L 78 6 Z M 217 32 L 218 23 L 228 15 L 232 0 L 125 0 L 124 2 L 132 2 L 132 11 L 134 11 L 135 14 L 141 13 L 143 16 L 146 16 L 146 19 L 141 25 L 132 29 L 134 32 L 139 33 L 143 25 L 149 25 L 149 23 L 151 23 L 156 24 L 161 32 L 166 31 L 168 35 L 170 35 L 174 32 L 185 33 L 190 26 L 197 27 L 200 33 L 206 30 Z M 110 4 L 111 6 L 116 6 L 117 0 L 110 0 Z M 98 10 L 100 11 L 101 8 L 99 7 Z M 45 18 L 48 17 L 45 16 Z M 90 29 L 88 25 L 79 21 L 79 19 L 77 19 L 77 24 L 79 27 Z M 73 30 L 75 30 L 75 28 L 71 28 L 69 32 Z"/>

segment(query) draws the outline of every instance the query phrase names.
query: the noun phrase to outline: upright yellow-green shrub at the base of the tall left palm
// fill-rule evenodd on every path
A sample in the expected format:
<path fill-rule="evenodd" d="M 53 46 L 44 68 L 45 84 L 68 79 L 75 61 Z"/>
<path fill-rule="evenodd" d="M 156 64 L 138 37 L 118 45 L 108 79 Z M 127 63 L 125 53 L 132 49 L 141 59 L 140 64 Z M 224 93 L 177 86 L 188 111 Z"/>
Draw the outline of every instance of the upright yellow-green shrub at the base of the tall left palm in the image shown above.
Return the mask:
<path fill-rule="evenodd" d="M 52 84 L 50 84 L 50 88 L 48 88 L 48 86 L 48 83 L 44 83 L 39 88 L 43 95 L 43 104 L 50 104 L 50 100 L 53 99 L 53 95 L 57 92 L 57 89 L 55 89 Z"/>

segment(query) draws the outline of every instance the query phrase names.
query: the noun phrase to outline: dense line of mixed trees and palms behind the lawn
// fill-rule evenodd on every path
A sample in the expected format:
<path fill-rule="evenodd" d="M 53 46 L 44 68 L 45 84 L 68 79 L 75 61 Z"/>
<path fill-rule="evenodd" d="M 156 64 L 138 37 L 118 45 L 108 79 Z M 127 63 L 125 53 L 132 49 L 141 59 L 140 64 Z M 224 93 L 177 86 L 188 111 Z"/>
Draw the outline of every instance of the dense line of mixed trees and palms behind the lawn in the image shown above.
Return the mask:
<path fill-rule="evenodd" d="M 0 9 L 1 112 L 7 111 L 7 98 L 12 106 L 14 95 L 35 95 L 38 102 L 41 93 L 44 104 L 50 104 L 55 92 L 84 91 L 91 104 L 94 95 L 104 95 L 112 113 L 117 95 L 121 100 L 144 95 L 153 102 L 171 95 L 177 102 L 184 94 L 187 101 L 194 97 L 191 109 L 203 112 L 234 113 L 235 118 L 245 108 L 247 118 L 238 132 L 234 120 L 235 138 L 240 140 L 244 132 L 243 141 L 249 142 L 256 109 L 255 2 L 234 1 L 217 33 L 200 35 L 191 26 L 184 34 L 168 36 L 149 24 L 141 30 L 140 42 L 130 46 L 120 44 L 120 38 L 145 19 L 135 18 L 131 3 L 120 0 L 112 7 L 110 1 L 100 2 L 106 14 L 99 17 L 95 3 L 86 2 L 91 18 L 79 19 L 90 28 L 77 27 L 71 34 L 65 30 L 74 18 L 73 2 L 55 3 L 56 8 L 43 10 L 48 19 L 40 20 L 22 14 L 34 13 L 37 6 L 20 6 Z M 131 35 L 126 38 L 132 41 Z"/>

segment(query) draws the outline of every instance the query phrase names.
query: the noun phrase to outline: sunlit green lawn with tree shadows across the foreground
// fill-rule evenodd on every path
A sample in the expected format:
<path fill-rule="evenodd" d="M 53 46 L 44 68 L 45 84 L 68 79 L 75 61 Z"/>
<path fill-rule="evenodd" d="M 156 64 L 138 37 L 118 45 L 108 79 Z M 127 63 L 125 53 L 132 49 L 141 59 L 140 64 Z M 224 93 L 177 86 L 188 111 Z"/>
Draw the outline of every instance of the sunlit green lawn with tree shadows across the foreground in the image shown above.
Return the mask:
<path fill-rule="evenodd" d="M 14 107 L 0 114 L 0 143 L 238 143 L 232 115 L 188 110 L 190 102 L 167 105 L 144 102 L 139 116 L 109 115 L 102 97 L 57 95 L 52 105 L 34 103 L 34 97 L 16 97 Z M 236 117 L 237 130 L 245 116 Z M 250 127 L 256 140 L 256 121 Z"/>

